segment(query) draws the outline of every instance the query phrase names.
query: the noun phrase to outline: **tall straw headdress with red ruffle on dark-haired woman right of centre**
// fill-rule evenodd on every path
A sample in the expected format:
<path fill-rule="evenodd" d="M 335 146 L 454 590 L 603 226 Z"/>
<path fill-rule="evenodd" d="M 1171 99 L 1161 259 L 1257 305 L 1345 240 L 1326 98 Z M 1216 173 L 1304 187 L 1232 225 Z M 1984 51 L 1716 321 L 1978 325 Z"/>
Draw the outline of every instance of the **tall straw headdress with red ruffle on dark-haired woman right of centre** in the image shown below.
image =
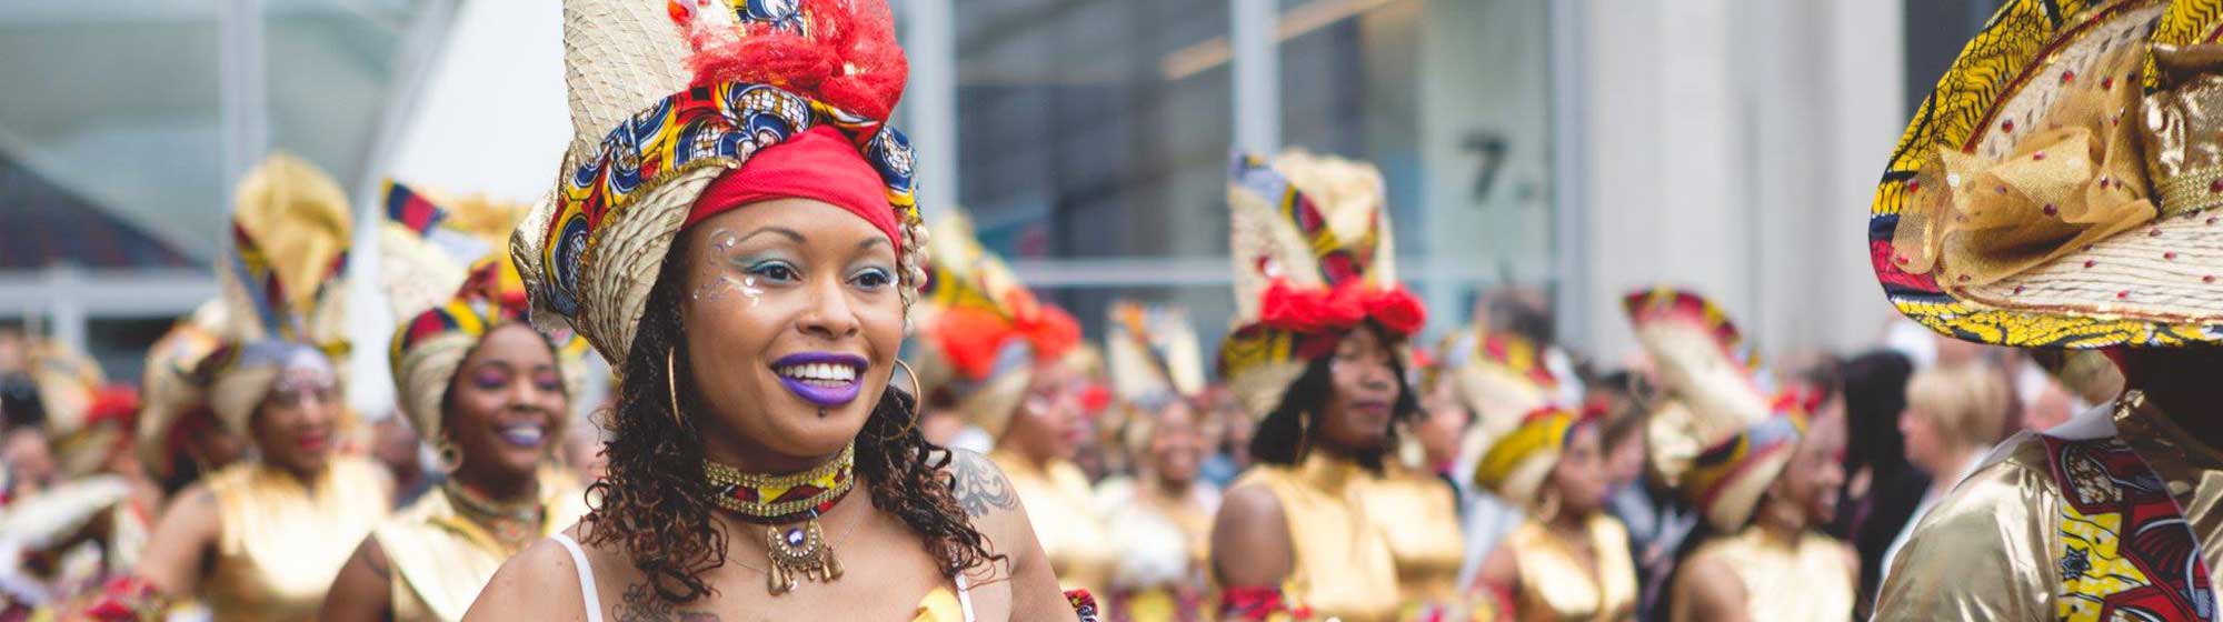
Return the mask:
<path fill-rule="evenodd" d="M 1218 367 L 1252 418 L 1272 411 L 1309 360 L 1363 322 L 1409 338 L 1427 320 L 1396 280 L 1389 204 L 1374 167 L 1305 151 L 1272 164 L 1236 156 L 1227 209 L 1236 318 Z"/>

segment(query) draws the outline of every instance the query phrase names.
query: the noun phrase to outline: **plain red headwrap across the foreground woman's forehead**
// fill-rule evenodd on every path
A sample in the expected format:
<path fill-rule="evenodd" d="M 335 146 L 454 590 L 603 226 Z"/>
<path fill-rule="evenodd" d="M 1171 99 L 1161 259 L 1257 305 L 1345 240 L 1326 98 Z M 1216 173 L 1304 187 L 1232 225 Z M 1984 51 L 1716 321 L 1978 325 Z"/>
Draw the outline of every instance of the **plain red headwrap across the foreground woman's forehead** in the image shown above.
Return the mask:
<path fill-rule="evenodd" d="M 831 124 L 811 127 L 780 144 L 765 147 L 740 169 L 718 175 L 687 211 L 687 224 L 760 200 L 820 200 L 865 218 L 903 253 L 896 209 L 887 204 L 887 182 Z"/>

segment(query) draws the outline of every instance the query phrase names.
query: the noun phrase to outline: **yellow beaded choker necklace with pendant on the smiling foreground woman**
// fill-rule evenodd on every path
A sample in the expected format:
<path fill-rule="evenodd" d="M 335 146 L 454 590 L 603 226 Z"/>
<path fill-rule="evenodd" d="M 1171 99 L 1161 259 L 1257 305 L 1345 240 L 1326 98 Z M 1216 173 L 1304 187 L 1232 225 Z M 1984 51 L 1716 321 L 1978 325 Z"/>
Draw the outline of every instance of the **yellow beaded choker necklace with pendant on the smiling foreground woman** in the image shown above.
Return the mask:
<path fill-rule="evenodd" d="M 771 595 L 796 589 L 798 578 L 831 582 L 840 578 L 840 562 L 827 544 L 818 518 L 834 509 L 856 484 L 856 442 L 840 449 L 827 464 L 789 475 L 758 475 L 740 469 L 702 462 L 718 506 L 745 522 L 765 526 L 765 586 Z M 782 529 L 785 524 L 785 529 Z"/>

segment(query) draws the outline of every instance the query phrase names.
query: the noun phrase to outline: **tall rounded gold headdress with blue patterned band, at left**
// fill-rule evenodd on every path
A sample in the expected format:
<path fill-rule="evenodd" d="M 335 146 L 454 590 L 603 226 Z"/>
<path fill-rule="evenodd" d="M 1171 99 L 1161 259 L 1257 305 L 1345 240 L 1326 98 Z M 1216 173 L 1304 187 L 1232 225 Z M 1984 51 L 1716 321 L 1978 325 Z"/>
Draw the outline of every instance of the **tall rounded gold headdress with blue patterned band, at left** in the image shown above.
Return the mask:
<path fill-rule="evenodd" d="M 231 244 L 216 264 L 225 344 L 202 360 L 209 409 L 236 433 L 289 362 L 320 355 L 345 380 L 347 193 L 325 171 L 276 153 L 240 180 Z"/>

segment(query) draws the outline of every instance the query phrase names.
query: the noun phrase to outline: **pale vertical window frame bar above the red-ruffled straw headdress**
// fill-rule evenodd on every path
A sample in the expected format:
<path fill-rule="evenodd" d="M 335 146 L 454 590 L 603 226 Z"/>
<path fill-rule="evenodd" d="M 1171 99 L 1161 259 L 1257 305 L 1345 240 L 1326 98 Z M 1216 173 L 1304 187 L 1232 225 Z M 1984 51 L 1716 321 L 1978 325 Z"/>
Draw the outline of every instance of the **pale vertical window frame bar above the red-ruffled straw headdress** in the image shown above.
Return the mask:
<path fill-rule="evenodd" d="M 1280 16 L 1274 0 L 1229 0 L 1236 149 L 1280 149 Z"/>

